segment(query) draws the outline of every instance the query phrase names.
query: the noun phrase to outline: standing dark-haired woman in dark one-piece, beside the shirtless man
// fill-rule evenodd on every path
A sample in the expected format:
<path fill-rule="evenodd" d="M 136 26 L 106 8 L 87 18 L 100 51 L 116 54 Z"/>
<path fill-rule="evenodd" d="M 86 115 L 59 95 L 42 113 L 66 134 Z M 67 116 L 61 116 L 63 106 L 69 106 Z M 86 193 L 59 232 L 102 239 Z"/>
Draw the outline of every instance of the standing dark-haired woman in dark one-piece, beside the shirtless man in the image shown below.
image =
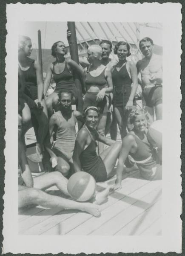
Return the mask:
<path fill-rule="evenodd" d="M 129 111 L 136 105 L 134 96 L 137 90 L 137 68 L 132 61 L 127 61 L 131 55 L 130 46 L 124 41 L 115 45 L 114 53 L 118 56 L 118 64 L 111 69 L 114 86 L 113 106 L 114 113 L 120 128 L 121 137 L 127 134 L 127 120 Z M 132 86 L 131 86 L 132 84 Z"/>

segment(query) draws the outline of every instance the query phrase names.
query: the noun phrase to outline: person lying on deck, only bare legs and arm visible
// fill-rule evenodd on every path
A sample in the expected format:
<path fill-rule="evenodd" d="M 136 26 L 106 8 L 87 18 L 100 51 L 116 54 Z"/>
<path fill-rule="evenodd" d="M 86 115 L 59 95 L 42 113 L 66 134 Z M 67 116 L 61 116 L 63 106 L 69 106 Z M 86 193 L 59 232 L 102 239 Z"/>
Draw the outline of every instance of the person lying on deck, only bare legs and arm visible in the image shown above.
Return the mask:
<path fill-rule="evenodd" d="M 90 202 L 77 202 L 74 200 L 62 198 L 60 196 L 49 195 L 43 192 L 51 186 L 57 188 L 65 195 L 68 194 L 68 180 L 60 172 L 50 172 L 39 177 L 31 176 L 31 170 L 28 165 L 25 147 L 21 140 L 22 134 L 22 117 L 18 116 L 18 207 L 24 207 L 29 204 L 37 204 L 46 208 L 57 207 L 63 209 L 78 209 L 94 215 L 100 215 L 100 206 L 107 199 L 110 186 L 102 192 L 97 193 Z"/>

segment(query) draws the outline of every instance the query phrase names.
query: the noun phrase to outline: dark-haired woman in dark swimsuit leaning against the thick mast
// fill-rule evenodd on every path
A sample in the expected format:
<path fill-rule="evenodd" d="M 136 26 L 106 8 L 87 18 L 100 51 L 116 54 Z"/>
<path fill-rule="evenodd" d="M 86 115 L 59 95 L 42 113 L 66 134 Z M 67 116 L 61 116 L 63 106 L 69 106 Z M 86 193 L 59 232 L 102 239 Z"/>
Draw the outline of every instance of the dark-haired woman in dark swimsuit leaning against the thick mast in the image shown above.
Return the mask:
<path fill-rule="evenodd" d="M 72 104 L 77 101 L 77 88 L 74 84 L 73 72 L 77 72 L 83 77 L 83 68 L 80 67 L 75 61 L 65 58 L 65 44 L 58 41 L 51 47 L 51 55 L 56 58 L 56 61 L 50 64 L 44 81 L 44 95 L 46 96 L 48 86 L 51 82 L 51 77 L 56 83 L 53 93 L 46 99 L 46 106 L 48 109 L 48 116 L 53 114 L 53 110 L 58 111 L 60 90 L 71 91 L 74 95 Z"/>

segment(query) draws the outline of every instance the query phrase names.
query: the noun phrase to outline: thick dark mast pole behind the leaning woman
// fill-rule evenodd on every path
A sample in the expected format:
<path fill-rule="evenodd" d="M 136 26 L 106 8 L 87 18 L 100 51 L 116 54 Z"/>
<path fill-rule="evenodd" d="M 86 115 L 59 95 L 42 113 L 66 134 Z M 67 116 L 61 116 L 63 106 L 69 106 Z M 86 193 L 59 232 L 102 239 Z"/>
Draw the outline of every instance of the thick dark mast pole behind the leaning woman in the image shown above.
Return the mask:
<path fill-rule="evenodd" d="M 76 29 L 74 21 L 68 21 L 68 30 L 71 31 L 71 36 L 69 38 L 69 49 L 71 54 L 71 59 L 79 64 L 78 58 L 78 48 L 77 48 L 77 36 L 76 36 Z M 77 73 L 74 73 L 74 83 L 77 87 L 78 93 L 78 101 L 77 101 L 77 110 L 83 113 L 83 99 L 82 99 L 82 85 L 80 82 L 80 78 Z M 78 123 L 78 127 L 81 125 Z"/>

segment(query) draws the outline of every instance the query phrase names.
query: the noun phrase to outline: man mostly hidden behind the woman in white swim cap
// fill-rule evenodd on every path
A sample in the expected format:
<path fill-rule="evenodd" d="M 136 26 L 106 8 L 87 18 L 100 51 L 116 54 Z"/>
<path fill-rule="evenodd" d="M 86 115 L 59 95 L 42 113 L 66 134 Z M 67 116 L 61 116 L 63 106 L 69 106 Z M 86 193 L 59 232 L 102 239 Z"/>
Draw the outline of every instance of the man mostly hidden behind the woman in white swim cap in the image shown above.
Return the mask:
<path fill-rule="evenodd" d="M 67 38 L 69 39 L 69 37 L 71 36 L 71 31 L 67 31 Z M 118 61 L 116 59 L 111 59 L 109 58 L 109 55 L 111 54 L 112 51 L 112 44 L 111 41 L 109 40 L 102 40 L 100 42 L 100 47 L 102 47 L 102 59 L 101 62 L 103 65 L 107 66 L 110 70 L 111 67 L 115 66 Z M 89 62 L 87 60 L 87 57 L 81 57 L 79 58 L 79 63 L 82 67 L 89 67 Z M 110 97 L 109 97 L 109 107 L 111 106 L 111 101 L 113 98 L 113 94 L 110 93 Z M 111 139 L 112 140 L 116 140 L 117 138 L 117 120 L 116 117 L 114 116 L 113 113 L 113 109 L 109 109 L 110 112 L 108 113 L 107 116 L 107 122 L 106 122 L 106 127 L 105 127 L 105 135 L 108 134 L 108 131 L 110 130 L 110 135 L 111 135 Z"/>

